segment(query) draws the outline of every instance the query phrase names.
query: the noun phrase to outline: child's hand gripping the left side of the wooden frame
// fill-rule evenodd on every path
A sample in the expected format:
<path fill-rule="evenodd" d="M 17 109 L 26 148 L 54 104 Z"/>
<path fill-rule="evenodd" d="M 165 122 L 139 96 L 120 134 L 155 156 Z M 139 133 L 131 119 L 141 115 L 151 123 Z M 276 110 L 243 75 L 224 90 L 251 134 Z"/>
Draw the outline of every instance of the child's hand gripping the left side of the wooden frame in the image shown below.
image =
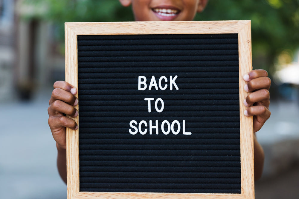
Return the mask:
<path fill-rule="evenodd" d="M 57 81 L 53 85 L 54 90 L 49 100 L 49 126 L 54 140 L 57 143 L 57 148 L 66 149 L 66 128 L 73 130 L 78 128 L 76 122 L 66 117 L 70 115 L 75 118 L 78 115 L 78 110 L 74 108 L 78 104 L 78 99 L 74 96 L 77 89 L 65 81 Z"/>

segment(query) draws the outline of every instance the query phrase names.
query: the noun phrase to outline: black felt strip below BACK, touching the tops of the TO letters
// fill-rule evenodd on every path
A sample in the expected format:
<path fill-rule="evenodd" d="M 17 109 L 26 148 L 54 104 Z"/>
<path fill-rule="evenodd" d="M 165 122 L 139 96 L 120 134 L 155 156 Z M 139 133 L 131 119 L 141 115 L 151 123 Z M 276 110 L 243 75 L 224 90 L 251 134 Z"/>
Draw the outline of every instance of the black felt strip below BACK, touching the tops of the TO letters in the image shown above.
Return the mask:
<path fill-rule="evenodd" d="M 80 91 L 79 91 L 80 92 Z M 151 98 L 161 98 L 161 95 L 158 94 L 151 94 Z M 197 94 L 197 95 L 189 95 L 189 94 L 176 94 L 176 99 L 178 100 L 229 100 L 229 99 L 239 99 L 239 94 Z M 80 94 L 79 100 L 135 100 L 141 99 L 144 100 L 145 95 L 82 95 Z M 163 95 L 163 100 L 171 100 L 173 99 L 173 94 Z M 221 115 L 221 114 L 219 114 Z M 126 115 L 124 115 L 126 116 Z"/>

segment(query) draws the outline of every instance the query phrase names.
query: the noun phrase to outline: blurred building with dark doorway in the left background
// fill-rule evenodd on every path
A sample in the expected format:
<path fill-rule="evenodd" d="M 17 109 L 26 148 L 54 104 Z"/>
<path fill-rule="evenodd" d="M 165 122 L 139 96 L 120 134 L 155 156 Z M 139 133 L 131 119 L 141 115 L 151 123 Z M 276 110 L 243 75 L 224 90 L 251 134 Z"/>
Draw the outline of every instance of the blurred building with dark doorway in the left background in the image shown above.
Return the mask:
<path fill-rule="evenodd" d="M 0 101 L 28 100 L 39 89 L 64 80 L 53 26 L 38 17 L 45 7 L 0 0 Z"/>

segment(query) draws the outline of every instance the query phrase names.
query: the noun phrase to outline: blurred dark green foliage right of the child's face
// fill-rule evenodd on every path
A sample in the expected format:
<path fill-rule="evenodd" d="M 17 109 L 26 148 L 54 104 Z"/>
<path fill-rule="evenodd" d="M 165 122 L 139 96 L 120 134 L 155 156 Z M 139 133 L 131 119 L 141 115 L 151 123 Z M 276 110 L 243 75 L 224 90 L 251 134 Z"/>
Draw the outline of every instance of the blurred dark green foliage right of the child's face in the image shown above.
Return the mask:
<path fill-rule="evenodd" d="M 298 0 L 210 0 L 196 20 L 251 20 L 255 68 L 272 71 L 283 50 L 299 47 Z"/>

